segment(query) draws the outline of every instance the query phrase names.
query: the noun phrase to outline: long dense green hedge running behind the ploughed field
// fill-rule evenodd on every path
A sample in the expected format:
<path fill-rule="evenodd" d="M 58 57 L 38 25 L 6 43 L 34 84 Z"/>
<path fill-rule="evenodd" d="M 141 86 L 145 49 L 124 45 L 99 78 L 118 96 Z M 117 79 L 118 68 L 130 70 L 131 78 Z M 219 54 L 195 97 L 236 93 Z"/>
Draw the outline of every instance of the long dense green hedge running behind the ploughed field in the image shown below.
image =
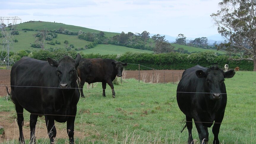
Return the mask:
<path fill-rule="evenodd" d="M 24 53 L 22 53 L 24 56 Z M 47 50 L 37 50 L 32 53 L 29 53 L 28 56 L 46 61 L 47 57 L 59 60 L 65 55 L 71 56 L 72 58 L 76 57 L 77 52 L 74 50 L 67 49 L 47 49 Z M 19 54 L 17 54 L 19 55 Z M 116 61 L 121 61 L 128 63 L 126 69 L 137 70 L 138 64 L 141 70 L 149 70 L 149 68 L 154 69 L 187 69 L 195 65 L 201 65 L 203 67 L 210 67 L 212 65 L 219 65 L 223 67 L 228 64 L 229 69 L 234 69 L 235 67 L 240 67 L 241 70 L 252 71 L 253 62 L 252 61 L 234 61 L 228 60 L 228 56 L 221 55 L 217 56 L 214 52 L 200 52 L 192 54 L 184 53 L 132 53 L 126 52 L 124 54 L 83 54 L 80 53 L 82 58 L 110 58 L 115 59 Z M 20 56 L 21 57 L 21 56 Z M 143 67 L 145 66 L 145 67 Z"/>

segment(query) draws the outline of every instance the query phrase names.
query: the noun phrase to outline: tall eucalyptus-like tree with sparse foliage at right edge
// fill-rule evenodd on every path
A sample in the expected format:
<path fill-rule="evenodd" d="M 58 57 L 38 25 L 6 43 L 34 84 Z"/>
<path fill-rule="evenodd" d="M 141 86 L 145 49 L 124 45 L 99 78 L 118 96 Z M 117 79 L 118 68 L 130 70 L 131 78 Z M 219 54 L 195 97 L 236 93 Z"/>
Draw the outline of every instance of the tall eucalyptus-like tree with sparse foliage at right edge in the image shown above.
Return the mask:
<path fill-rule="evenodd" d="M 218 49 L 240 54 L 240 58 L 230 57 L 232 60 L 253 61 L 253 71 L 256 71 L 256 1 L 223 0 L 219 6 L 221 10 L 211 17 L 227 41 Z"/>

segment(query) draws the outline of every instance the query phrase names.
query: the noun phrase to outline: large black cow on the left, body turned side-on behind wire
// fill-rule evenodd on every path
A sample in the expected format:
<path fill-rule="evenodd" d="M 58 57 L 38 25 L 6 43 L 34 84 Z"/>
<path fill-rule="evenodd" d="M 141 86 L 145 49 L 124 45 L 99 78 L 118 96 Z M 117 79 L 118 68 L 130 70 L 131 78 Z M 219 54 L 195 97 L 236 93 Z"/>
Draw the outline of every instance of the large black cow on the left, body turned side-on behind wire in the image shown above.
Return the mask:
<path fill-rule="evenodd" d="M 54 121 L 67 121 L 69 143 L 74 144 L 74 121 L 80 97 L 76 68 L 80 59 L 79 54 L 75 60 L 65 56 L 60 61 L 47 58 L 48 62 L 23 57 L 12 66 L 10 95 L 17 112 L 20 143 L 25 143 L 22 130 L 25 109 L 31 113 L 30 143 L 36 143 L 37 117 L 44 115 L 50 143 L 56 137 Z"/>

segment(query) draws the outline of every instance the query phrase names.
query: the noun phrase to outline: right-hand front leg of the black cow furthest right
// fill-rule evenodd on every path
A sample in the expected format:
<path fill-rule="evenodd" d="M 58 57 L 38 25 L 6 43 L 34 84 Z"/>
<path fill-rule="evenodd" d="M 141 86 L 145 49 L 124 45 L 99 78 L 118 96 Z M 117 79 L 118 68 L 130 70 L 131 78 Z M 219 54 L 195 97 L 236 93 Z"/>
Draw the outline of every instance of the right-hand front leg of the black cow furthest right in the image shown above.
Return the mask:
<path fill-rule="evenodd" d="M 219 144 L 219 128 L 224 117 L 224 112 L 217 116 L 214 125 L 212 127 L 212 133 L 214 135 L 213 143 Z"/>

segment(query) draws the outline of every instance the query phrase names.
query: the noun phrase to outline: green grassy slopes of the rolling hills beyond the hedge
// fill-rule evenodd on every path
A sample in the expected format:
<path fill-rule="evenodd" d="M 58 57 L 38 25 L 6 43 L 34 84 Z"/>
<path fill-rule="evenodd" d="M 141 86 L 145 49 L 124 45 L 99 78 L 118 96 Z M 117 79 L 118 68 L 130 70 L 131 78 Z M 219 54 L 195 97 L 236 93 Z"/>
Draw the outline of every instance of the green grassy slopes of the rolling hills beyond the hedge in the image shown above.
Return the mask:
<path fill-rule="evenodd" d="M 13 45 L 13 52 L 18 52 L 20 50 L 38 50 L 39 48 L 32 48 L 30 45 L 32 43 L 35 43 L 35 37 L 33 36 L 36 34 L 39 30 L 54 30 L 54 29 L 68 29 L 69 31 L 83 31 L 83 32 L 91 32 L 91 33 L 99 33 L 100 31 L 94 30 L 94 29 L 88 29 L 80 26 L 72 26 L 72 25 L 66 25 L 63 23 L 52 23 L 52 22 L 42 22 L 42 21 L 29 21 L 25 23 L 20 23 L 16 25 L 16 29 L 19 31 L 19 35 L 15 35 L 14 39 L 17 39 L 18 42 L 15 42 Z M 34 31 L 24 31 L 22 29 L 33 29 Z M 105 32 L 105 37 L 113 37 L 119 33 L 112 33 L 112 32 Z M 55 41 L 61 42 L 60 45 L 49 45 L 46 44 L 47 42 L 55 42 Z M 64 41 L 67 40 L 69 42 L 68 46 L 70 44 L 73 44 L 75 48 L 84 48 L 85 45 L 89 45 L 92 42 L 78 39 L 77 35 L 67 35 L 67 34 L 58 34 L 58 37 L 53 38 L 51 41 L 45 42 L 45 48 L 65 48 L 66 45 L 64 44 Z M 154 46 L 154 40 L 149 39 L 148 43 L 146 45 Z M 184 50 L 188 50 L 188 52 L 201 52 L 201 51 L 214 51 L 218 53 L 224 54 L 224 52 L 213 50 L 213 49 L 203 49 L 203 48 L 195 48 L 185 45 L 177 45 L 172 44 L 175 46 L 175 50 L 178 48 L 184 48 Z M 118 45 L 97 45 L 94 48 L 90 49 L 84 49 L 80 50 L 83 53 L 99 53 L 99 54 L 119 54 L 119 53 L 125 53 L 127 51 L 132 52 L 146 52 L 146 53 L 153 53 L 153 51 L 150 50 L 140 50 L 140 49 L 134 49 L 134 48 L 127 48 L 124 46 L 118 46 Z"/>

